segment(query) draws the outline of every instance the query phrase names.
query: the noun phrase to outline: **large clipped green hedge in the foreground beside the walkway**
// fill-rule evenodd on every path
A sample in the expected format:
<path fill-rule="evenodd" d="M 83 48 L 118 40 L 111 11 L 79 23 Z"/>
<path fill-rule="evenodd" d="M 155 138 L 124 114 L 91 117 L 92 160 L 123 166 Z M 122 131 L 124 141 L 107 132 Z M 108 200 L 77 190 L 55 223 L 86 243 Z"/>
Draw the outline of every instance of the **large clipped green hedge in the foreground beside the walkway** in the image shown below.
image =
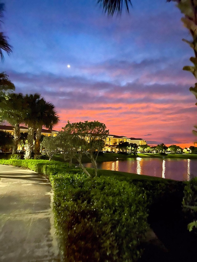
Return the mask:
<path fill-rule="evenodd" d="M 147 229 L 146 195 L 128 182 L 84 175 L 50 176 L 69 261 L 136 261 Z M 93 251 L 94 250 L 94 251 Z"/>

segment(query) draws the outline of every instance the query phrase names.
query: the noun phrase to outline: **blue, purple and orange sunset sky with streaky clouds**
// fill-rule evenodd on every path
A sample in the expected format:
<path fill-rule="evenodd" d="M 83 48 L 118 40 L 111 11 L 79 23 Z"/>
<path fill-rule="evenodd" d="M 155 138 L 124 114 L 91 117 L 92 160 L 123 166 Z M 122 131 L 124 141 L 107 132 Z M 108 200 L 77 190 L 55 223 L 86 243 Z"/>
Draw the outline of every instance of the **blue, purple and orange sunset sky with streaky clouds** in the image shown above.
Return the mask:
<path fill-rule="evenodd" d="M 108 17 L 97 0 L 4 0 L 1 31 L 13 53 L 0 62 L 23 94 L 55 105 L 67 121 L 105 123 L 110 134 L 147 144 L 194 145 L 192 49 L 175 2 L 133 0 Z M 70 67 L 68 67 L 70 65 Z"/>

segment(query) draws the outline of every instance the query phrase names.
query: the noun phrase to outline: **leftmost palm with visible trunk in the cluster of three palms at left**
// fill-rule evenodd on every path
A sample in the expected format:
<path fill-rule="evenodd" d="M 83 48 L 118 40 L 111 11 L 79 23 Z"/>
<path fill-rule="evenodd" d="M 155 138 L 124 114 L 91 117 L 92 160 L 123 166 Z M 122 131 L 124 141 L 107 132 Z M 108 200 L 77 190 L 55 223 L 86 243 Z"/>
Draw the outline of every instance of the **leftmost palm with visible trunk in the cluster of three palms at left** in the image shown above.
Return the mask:
<path fill-rule="evenodd" d="M 19 125 L 24 122 L 26 116 L 26 104 L 21 93 L 12 93 L 8 98 L 0 101 L 0 118 L 14 126 L 14 144 L 12 154 L 16 154 L 20 140 Z"/>

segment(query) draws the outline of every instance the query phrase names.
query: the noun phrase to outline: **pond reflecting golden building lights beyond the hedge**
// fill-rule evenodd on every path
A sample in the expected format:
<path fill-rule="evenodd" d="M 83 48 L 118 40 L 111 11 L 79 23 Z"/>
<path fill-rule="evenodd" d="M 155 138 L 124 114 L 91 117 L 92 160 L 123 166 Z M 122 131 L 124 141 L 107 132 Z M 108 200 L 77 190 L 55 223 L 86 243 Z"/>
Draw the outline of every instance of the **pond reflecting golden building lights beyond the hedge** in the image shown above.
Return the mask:
<path fill-rule="evenodd" d="M 90 163 L 84 166 L 92 167 Z M 98 169 L 188 181 L 197 176 L 197 159 L 127 158 L 124 161 L 98 163 Z"/>

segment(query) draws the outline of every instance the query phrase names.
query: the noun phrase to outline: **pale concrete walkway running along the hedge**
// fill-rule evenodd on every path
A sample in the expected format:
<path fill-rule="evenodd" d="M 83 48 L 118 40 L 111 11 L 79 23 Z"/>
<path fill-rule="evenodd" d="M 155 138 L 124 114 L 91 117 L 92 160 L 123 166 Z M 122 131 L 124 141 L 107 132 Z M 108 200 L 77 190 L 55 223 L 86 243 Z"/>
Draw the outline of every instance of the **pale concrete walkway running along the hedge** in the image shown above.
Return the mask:
<path fill-rule="evenodd" d="M 53 191 L 37 173 L 0 165 L 0 261 L 60 261 Z"/>

